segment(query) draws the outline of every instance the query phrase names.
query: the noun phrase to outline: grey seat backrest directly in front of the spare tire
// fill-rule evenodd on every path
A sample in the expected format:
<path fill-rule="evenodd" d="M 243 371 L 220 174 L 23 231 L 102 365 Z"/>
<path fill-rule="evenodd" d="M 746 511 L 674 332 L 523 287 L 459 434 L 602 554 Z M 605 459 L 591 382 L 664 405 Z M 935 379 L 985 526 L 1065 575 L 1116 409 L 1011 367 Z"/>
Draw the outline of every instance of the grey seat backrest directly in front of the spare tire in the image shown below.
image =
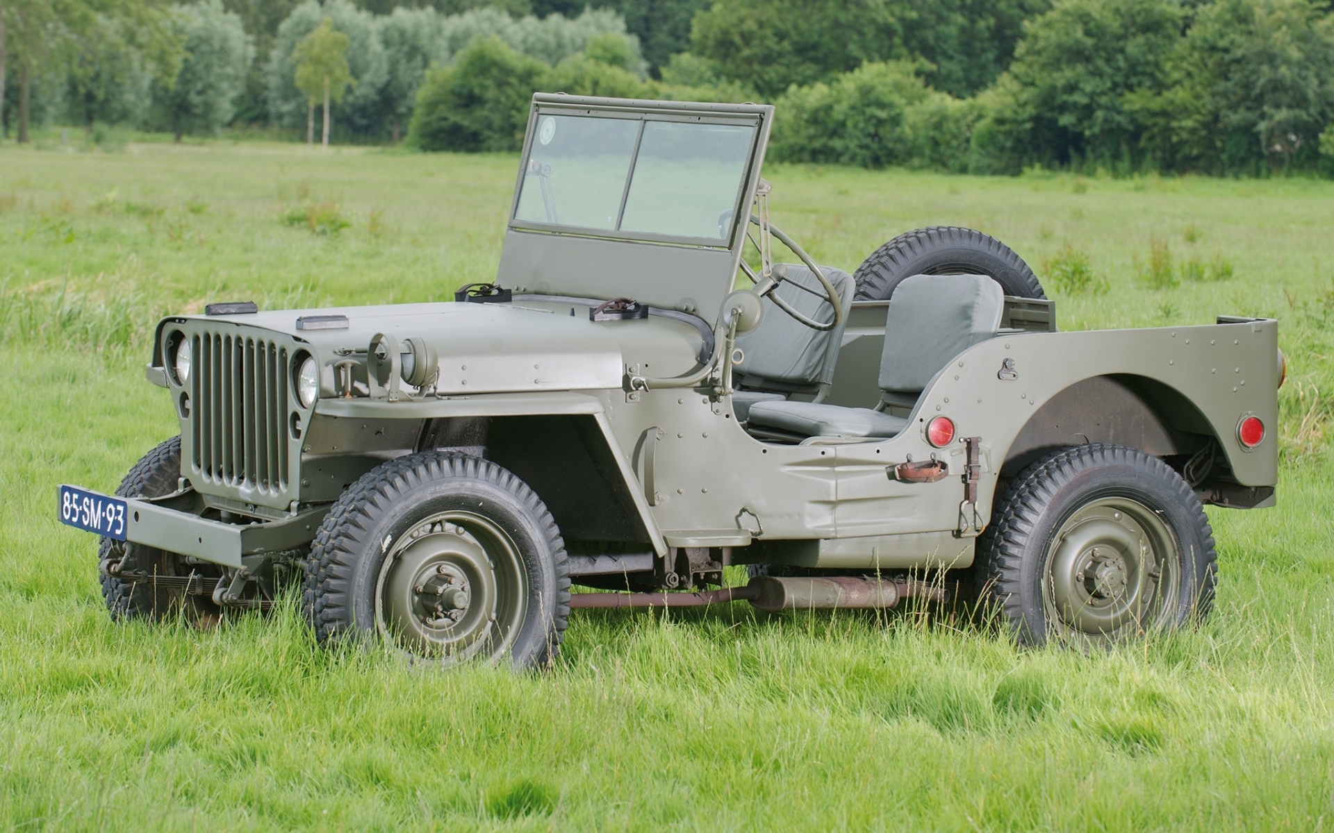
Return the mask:
<path fill-rule="evenodd" d="M 914 275 L 890 297 L 880 391 L 916 393 L 951 359 L 1000 329 L 1005 292 L 984 275 Z"/>

